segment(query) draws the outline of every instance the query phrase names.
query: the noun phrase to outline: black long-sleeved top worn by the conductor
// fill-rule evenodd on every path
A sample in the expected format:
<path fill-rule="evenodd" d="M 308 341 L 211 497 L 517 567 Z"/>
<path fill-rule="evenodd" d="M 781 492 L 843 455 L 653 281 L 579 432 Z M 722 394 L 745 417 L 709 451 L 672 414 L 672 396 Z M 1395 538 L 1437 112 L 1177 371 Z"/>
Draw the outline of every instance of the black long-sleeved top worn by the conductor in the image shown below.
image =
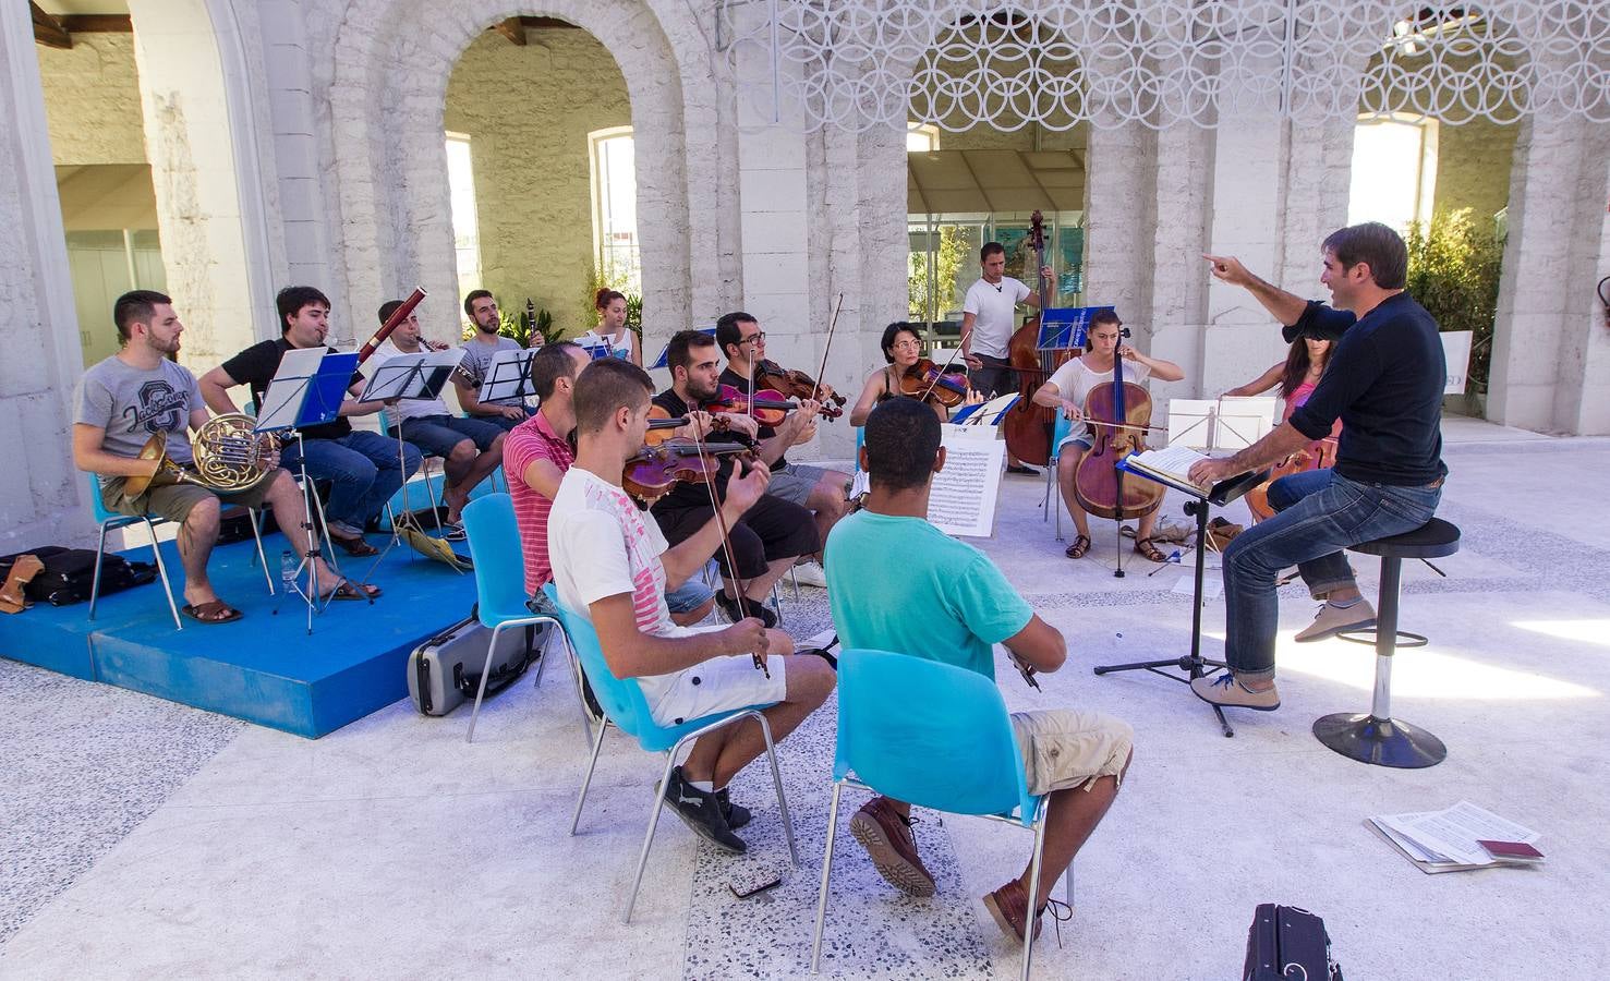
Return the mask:
<path fill-rule="evenodd" d="M 1354 319 L 1309 301 L 1286 341 L 1335 341 L 1325 375 L 1291 414 L 1304 437 L 1330 435 L 1341 419 L 1336 472 L 1362 483 L 1420 486 L 1447 474 L 1443 464 L 1443 387 L 1447 366 L 1436 321 L 1407 293 L 1394 293 Z"/>

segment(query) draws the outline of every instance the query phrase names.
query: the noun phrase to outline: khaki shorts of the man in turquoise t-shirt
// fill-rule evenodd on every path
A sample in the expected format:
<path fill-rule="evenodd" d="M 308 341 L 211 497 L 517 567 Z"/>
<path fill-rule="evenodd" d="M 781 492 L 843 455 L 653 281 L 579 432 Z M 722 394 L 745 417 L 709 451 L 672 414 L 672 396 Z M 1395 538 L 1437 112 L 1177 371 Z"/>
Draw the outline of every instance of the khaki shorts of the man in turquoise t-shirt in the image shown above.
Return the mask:
<path fill-rule="evenodd" d="M 1122 780 L 1135 730 L 1121 718 L 1079 709 L 1013 712 L 1029 793 L 1088 788 L 1103 776 Z"/>

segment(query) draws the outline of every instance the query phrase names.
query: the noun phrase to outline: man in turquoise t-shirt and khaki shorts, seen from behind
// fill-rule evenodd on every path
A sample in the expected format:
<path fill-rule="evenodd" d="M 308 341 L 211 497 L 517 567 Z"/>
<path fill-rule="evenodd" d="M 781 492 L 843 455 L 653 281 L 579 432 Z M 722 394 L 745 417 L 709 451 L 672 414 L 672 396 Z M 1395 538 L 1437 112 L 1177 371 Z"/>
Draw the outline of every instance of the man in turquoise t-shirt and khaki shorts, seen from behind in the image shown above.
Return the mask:
<path fill-rule="evenodd" d="M 882 403 L 866 419 L 861 467 L 866 507 L 834 525 L 823 553 L 828 599 L 844 648 L 895 651 L 995 678 L 993 644 L 1038 672 L 1067 657 L 1063 635 L 1034 614 L 998 569 L 971 544 L 927 524 L 927 495 L 945 466 L 939 419 L 910 398 Z M 995 921 L 1022 939 L 1034 910 L 1038 936 L 1051 888 L 1113 804 L 1129 768 L 1133 731 L 1096 712 L 1013 712 L 1029 793 L 1050 794 L 1045 859 L 1030 905 L 1029 868 L 984 897 Z M 873 797 L 850 833 L 877 871 L 911 896 L 932 896 L 934 876 L 911 834 L 911 805 Z"/>

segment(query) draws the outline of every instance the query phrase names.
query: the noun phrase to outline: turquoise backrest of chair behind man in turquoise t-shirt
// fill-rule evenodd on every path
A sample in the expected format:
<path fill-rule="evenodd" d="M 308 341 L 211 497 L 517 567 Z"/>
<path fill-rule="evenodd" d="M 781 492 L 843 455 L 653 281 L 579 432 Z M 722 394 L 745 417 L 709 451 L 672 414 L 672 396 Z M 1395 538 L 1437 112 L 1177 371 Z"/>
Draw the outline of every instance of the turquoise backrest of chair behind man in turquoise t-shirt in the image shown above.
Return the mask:
<path fill-rule="evenodd" d="M 1034 822 L 1022 754 L 995 681 L 977 672 L 889 651 L 839 657 L 839 746 L 832 775 L 850 772 L 879 794 L 952 813 Z"/>

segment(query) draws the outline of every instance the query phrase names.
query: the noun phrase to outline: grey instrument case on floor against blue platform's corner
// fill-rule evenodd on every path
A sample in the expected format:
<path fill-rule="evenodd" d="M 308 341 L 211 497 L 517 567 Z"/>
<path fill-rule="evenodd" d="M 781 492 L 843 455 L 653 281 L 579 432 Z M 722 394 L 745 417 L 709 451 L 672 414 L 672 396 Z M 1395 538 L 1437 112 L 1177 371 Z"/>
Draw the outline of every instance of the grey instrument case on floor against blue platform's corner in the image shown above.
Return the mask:
<path fill-rule="evenodd" d="M 491 640 L 491 628 L 470 615 L 414 648 L 407 659 L 407 693 L 414 707 L 422 715 L 446 715 L 464 702 L 473 702 Z M 486 696 L 514 685 L 541 656 L 536 627 L 499 633 Z"/>

